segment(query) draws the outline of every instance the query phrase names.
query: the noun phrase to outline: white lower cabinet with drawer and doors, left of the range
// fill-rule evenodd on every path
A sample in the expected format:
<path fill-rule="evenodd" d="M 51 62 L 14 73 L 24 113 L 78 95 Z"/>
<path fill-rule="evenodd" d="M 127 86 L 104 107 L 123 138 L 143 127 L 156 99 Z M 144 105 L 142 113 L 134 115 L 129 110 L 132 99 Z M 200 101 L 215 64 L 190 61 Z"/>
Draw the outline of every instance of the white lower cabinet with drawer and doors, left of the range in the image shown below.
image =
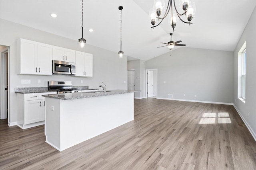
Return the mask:
<path fill-rule="evenodd" d="M 56 92 L 18 94 L 19 107 L 22 108 L 18 117 L 19 127 L 27 129 L 44 124 L 45 101 L 42 95 L 45 94 L 56 94 Z"/>

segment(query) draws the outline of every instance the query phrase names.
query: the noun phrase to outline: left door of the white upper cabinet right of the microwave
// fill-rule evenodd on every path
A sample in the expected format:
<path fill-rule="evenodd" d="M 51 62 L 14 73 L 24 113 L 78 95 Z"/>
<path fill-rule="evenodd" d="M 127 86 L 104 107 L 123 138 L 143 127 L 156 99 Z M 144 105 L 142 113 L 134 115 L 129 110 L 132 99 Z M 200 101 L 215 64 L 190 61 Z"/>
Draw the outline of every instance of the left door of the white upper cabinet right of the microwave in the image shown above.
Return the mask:
<path fill-rule="evenodd" d="M 76 75 L 78 77 L 84 77 L 84 57 L 85 53 L 76 51 Z"/>

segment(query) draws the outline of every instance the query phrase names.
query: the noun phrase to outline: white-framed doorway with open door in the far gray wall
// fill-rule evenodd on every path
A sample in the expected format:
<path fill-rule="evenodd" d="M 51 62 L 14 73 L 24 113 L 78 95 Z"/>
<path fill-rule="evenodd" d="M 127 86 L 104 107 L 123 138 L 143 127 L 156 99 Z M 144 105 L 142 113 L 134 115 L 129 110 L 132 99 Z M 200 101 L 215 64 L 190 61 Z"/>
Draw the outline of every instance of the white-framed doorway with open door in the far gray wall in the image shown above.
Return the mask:
<path fill-rule="evenodd" d="M 146 70 L 146 96 L 157 98 L 157 69 Z"/>

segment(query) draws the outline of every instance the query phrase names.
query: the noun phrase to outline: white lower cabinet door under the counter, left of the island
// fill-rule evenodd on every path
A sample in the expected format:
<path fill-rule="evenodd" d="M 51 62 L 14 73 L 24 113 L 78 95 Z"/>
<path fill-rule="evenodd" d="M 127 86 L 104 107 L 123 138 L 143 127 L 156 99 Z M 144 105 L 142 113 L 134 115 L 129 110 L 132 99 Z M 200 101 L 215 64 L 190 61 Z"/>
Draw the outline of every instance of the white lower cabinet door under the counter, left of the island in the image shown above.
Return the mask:
<path fill-rule="evenodd" d="M 24 125 L 42 121 L 42 100 L 24 102 Z"/>

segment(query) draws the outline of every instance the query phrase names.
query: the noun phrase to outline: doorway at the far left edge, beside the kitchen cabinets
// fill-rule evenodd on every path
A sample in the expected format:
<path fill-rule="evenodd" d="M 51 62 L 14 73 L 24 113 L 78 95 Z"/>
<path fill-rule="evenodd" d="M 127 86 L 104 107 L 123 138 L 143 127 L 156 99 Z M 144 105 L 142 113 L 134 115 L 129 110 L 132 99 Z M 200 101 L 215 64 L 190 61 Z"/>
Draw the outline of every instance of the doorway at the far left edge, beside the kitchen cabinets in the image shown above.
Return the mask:
<path fill-rule="evenodd" d="M 9 47 L 0 45 L 0 119 L 8 118 Z"/>

